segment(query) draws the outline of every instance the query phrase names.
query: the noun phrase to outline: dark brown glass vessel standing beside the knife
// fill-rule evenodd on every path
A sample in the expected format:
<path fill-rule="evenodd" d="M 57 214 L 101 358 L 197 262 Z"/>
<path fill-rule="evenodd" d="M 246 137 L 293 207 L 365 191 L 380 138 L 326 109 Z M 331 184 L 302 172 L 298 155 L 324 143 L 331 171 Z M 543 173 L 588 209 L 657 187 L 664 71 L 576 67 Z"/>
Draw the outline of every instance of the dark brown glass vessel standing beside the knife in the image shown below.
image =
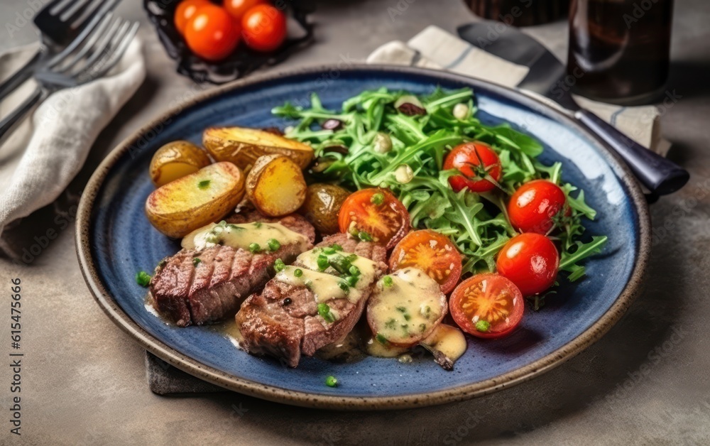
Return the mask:
<path fill-rule="evenodd" d="M 672 13 L 673 0 L 572 0 L 567 73 L 577 92 L 617 103 L 662 92 Z"/>

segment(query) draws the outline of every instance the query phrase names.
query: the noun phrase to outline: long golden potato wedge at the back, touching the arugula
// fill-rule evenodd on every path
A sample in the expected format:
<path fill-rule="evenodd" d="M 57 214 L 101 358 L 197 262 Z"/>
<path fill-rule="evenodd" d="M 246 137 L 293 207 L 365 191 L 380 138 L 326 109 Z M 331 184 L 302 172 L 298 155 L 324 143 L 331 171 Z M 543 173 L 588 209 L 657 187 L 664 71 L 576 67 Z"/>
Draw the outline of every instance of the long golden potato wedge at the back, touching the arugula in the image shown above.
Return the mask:
<path fill-rule="evenodd" d="M 307 144 L 258 129 L 244 127 L 212 127 L 202 134 L 202 144 L 212 158 L 229 161 L 245 172 L 263 155 L 288 156 L 301 169 L 313 159 L 313 149 Z"/>

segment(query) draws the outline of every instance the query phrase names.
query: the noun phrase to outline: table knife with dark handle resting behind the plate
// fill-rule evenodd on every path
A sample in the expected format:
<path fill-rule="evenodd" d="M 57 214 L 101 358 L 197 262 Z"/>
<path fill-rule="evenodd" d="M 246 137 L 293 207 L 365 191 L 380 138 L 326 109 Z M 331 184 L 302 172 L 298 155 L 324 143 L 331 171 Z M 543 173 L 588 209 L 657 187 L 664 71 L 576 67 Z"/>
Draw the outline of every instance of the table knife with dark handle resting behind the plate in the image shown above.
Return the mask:
<path fill-rule="evenodd" d="M 564 85 L 560 82 L 567 75 L 567 70 L 550 50 L 515 28 L 509 27 L 504 33 L 497 33 L 493 28 L 495 24 L 496 22 L 481 21 L 460 26 L 459 36 L 471 45 L 499 58 L 530 67 L 528 75 L 518 84 L 518 88 L 542 94 L 567 109 L 582 126 L 616 151 L 650 192 L 667 195 L 688 182 L 690 174 L 687 170 L 628 138 L 596 114 L 579 107 L 569 88 L 559 87 Z"/>

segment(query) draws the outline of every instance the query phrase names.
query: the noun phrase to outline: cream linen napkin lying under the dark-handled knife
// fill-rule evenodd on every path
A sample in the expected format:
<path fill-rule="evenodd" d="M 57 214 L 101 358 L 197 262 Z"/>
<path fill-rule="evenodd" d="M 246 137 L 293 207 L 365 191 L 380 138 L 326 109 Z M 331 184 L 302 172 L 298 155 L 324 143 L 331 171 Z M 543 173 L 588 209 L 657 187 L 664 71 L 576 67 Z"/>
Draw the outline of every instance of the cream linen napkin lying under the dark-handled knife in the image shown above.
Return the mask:
<path fill-rule="evenodd" d="M 506 87 L 518 85 L 530 70 L 476 48 L 437 26 L 425 28 L 407 43 L 394 40 L 382 45 L 369 55 L 367 62 L 450 70 Z M 539 94 L 526 93 L 559 107 Z M 643 146 L 662 156 L 668 152 L 670 143 L 661 137 L 658 107 L 618 107 L 579 96 L 574 99 Z"/>

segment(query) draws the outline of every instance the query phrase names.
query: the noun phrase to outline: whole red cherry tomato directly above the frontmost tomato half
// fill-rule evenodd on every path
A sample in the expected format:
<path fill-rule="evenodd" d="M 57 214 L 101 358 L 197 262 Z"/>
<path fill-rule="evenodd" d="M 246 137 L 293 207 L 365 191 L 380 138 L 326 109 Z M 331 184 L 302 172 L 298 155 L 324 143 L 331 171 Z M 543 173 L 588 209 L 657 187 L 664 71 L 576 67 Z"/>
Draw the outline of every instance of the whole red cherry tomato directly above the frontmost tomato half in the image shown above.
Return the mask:
<path fill-rule="evenodd" d="M 496 261 L 498 273 L 509 278 L 525 296 L 542 293 L 557 278 L 559 254 L 552 240 L 526 232 L 508 240 Z"/>

